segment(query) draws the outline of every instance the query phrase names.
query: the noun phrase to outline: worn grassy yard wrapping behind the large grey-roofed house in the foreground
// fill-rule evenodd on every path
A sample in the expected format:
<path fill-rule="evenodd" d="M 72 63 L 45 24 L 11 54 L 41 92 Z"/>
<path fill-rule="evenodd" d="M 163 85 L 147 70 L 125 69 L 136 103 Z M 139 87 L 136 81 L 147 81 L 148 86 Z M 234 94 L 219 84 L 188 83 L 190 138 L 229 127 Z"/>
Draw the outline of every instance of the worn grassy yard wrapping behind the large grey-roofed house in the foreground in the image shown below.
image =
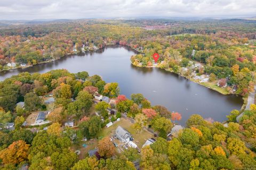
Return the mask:
<path fill-rule="evenodd" d="M 134 138 L 134 142 L 137 144 L 139 148 L 141 148 L 148 138 L 153 137 L 153 134 L 149 133 L 148 131 L 137 133 L 132 128 L 132 125 L 133 124 L 129 120 L 126 120 L 125 118 L 121 118 L 119 122 L 114 123 L 109 128 L 106 128 L 106 127 L 103 128 L 102 131 L 99 133 L 98 137 L 103 138 L 103 137 L 111 136 L 115 133 L 117 126 L 122 126 L 122 128 L 126 129 L 128 132 L 132 134 L 132 137 Z"/>

